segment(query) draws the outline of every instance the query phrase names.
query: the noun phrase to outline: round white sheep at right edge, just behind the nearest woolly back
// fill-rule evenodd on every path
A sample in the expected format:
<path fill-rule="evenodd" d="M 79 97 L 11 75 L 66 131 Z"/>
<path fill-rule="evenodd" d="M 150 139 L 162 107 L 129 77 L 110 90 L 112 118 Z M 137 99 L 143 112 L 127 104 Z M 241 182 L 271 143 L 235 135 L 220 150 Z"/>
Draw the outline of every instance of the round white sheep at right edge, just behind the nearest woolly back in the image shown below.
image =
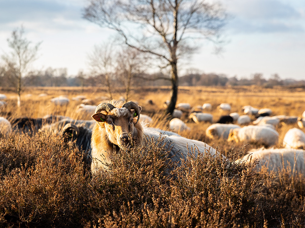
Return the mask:
<path fill-rule="evenodd" d="M 305 133 L 297 128 L 288 130 L 284 136 L 283 147 L 305 149 Z"/>

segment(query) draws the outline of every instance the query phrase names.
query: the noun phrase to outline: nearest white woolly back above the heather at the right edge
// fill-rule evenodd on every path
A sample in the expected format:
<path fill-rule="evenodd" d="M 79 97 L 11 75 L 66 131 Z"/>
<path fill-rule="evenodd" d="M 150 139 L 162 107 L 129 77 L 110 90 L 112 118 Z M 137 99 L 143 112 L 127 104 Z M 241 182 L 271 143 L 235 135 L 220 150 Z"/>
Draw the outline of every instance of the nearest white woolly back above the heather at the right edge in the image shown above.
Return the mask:
<path fill-rule="evenodd" d="M 297 150 L 292 148 L 260 148 L 250 150 L 249 153 L 250 154 L 245 155 L 235 162 L 238 163 L 239 161 L 244 160 L 246 163 L 249 163 L 250 158 L 251 162 L 257 159 L 259 163 L 254 167 L 254 171 L 260 171 L 263 166 L 266 166 L 268 171 L 278 172 L 281 171 L 282 168 L 291 166 L 292 175 L 295 173 L 295 171 L 305 174 L 305 150 Z"/>

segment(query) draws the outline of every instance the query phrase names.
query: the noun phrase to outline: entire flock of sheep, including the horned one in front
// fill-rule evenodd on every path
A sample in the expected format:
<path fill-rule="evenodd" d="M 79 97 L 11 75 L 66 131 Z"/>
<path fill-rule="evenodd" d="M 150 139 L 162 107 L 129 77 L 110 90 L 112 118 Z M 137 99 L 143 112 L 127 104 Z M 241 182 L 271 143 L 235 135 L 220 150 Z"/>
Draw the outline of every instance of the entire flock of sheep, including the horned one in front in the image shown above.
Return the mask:
<path fill-rule="evenodd" d="M 6 102 L 5 95 L 0 94 L 0 109 Z M 173 112 L 172 119 L 165 129 L 150 128 L 152 118 L 148 115 L 140 114 L 141 106 L 135 102 L 109 102 L 100 105 L 90 104 L 84 96 L 77 96 L 72 100 L 82 100 L 78 105 L 76 112 L 81 115 L 92 115 L 93 120 L 71 119 L 66 116 L 48 115 L 42 118 L 15 118 L 5 119 L 0 117 L 0 137 L 7 137 L 11 132 L 23 133 L 56 133 L 63 136 L 66 143 L 76 143 L 80 150 L 85 151 L 85 160 L 91 164 L 91 171 L 107 169 L 105 162 L 110 162 L 113 148 L 129 148 L 132 141 L 136 144 L 147 142 L 149 138 L 157 139 L 160 135 L 163 137 L 165 145 L 172 147 L 170 157 L 173 161 L 186 159 L 188 152 L 187 145 L 193 147 L 196 145 L 199 151 L 209 151 L 215 154 L 215 149 L 206 143 L 198 140 L 191 140 L 180 136 L 181 131 L 190 131 L 189 121 L 199 123 L 209 123 L 206 129 L 206 136 L 210 139 L 221 138 L 225 141 L 236 143 L 257 142 L 263 144 L 266 148 L 250 150 L 252 161 L 258 159 L 256 169 L 259 170 L 268 163 L 268 169 L 281 169 L 282 165 L 293 164 L 295 170 L 305 174 L 304 168 L 304 149 L 305 134 L 302 130 L 292 128 L 287 131 L 283 139 L 283 148 L 275 149 L 274 145 L 278 143 L 279 134 L 276 126 L 280 123 L 295 124 L 302 129 L 305 125 L 305 111 L 302 117 L 298 116 L 272 116 L 271 109 L 257 109 L 250 105 L 242 107 L 242 115 L 238 112 L 231 113 L 231 105 L 222 103 L 217 106 L 217 111 L 222 116 L 216 121 L 213 120 L 213 114 L 210 103 L 202 106 L 192 107 L 188 103 L 179 103 Z M 50 102 L 54 105 L 67 105 L 70 100 L 64 96 L 52 98 Z M 164 102 L 166 106 L 168 102 Z M 183 116 L 187 115 L 187 120 L 183 121 Z M 114 124 L 115 123 L 115 124 Z M 120 126 L 119 128 L 114 126 Z M 124 126 L 124 127 L 123 127 Z M 119 130 L 118 130 L 119 129 Z M 176 133 L 175 133 L 176 132 Z M 149 136 L 149 137 L 147 137 Z M 195 156 L 196 151 L 194 150 Z M 245 155 L 240 160 L 250 160 Z M 236 162 L 239 162 L 237 160 Z"/>

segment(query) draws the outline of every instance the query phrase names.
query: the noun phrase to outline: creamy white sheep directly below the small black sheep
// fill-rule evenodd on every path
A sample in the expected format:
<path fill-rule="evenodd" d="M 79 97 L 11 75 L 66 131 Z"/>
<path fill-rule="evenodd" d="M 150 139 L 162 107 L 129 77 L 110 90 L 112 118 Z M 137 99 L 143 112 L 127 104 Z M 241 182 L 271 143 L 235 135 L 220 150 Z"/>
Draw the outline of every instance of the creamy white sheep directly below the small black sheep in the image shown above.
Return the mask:
<path fill-rule="evenodd" d="M 230 130 L 235 128 L 240 128 L 240 126 L 231 123 L 230 124 L 214 123 L 206 129 L 206 136 L 211 139 L 217 137 L 227 140 Z"/>

